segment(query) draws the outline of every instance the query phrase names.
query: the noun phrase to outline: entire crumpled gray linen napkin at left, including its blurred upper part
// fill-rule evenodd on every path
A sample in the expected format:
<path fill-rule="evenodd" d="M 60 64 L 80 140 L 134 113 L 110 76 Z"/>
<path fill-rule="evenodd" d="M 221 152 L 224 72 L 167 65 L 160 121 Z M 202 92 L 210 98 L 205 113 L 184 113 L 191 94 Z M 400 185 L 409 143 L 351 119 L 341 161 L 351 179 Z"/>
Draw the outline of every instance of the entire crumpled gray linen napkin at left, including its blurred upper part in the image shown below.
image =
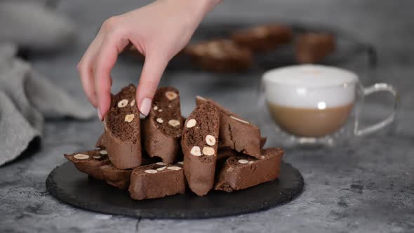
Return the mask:
<path fill-rule="evenodd" d="M 18 47 L 55 51 L 73 40 L 73 23 L 59 13 L 33 2 L 0 0 L 0 166 L 41 138 L 45 119 L 95 115 L 16 58 Z"/>

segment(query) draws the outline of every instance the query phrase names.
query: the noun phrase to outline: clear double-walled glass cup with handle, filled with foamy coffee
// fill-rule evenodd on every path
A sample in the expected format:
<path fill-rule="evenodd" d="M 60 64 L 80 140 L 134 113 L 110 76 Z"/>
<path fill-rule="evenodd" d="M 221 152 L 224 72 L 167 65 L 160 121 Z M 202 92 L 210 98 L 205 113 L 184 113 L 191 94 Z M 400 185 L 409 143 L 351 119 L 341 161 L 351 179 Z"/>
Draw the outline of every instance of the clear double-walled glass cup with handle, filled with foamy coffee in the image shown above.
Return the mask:
<path fill-rule="evenodd" d="M 360 128 L 364 97 L 379 91 L 392 94 L 392 113 Z M 399 98 L 389 84 L 364 88 L 359 77 L 346 69 L 295 65 L 265 72 L 258 101 L 262 128 L 274 126 L 283 145 L 332 146 L 391 124 Z"/>

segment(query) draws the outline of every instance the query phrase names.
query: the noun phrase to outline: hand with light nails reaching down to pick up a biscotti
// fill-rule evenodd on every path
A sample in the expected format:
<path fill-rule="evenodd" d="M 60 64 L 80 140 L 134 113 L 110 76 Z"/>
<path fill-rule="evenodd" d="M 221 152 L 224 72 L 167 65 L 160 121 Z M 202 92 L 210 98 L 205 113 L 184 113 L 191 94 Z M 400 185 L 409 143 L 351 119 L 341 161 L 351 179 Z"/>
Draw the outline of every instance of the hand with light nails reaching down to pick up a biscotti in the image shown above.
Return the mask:
<path fill-rule="evenodd" d="M 159 0 L 105 20 L 78 65 L 88 100 L 102 121 L 111 103 L 111 69 L 132 43 L 145 63 L 137 88 L 138 109 L 145 116 L 168 61 L 189 41 L 204 15 L 219 0 Z"/>

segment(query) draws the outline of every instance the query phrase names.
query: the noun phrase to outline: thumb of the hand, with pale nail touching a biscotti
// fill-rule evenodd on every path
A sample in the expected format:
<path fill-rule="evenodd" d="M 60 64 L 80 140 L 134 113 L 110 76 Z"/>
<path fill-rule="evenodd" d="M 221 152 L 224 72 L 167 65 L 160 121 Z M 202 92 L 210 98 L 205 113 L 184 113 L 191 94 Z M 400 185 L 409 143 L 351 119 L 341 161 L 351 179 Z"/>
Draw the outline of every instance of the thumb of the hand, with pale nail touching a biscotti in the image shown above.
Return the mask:
<path fill-rule="evenodd" d="M 149 53 L 145 57 L 144 67 L 137 88 L 136 100 L 141 114 L 147 116 L 151 108 L 159 80 L 166 69 L 168 59 L 160 53 Z"/>

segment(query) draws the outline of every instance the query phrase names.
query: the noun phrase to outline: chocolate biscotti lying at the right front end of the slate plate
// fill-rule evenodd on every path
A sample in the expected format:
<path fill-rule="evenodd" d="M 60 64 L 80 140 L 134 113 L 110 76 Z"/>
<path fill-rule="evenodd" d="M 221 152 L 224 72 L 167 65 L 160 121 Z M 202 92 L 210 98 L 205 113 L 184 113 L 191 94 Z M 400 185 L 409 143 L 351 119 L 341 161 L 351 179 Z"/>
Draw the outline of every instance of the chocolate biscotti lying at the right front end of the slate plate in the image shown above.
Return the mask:
<path fill-rule="evenodd" d="M 220 169 L 215 182 L 215 190 L 233 192 L 275 180 L 279 177 L 283 149 L 262 150 L 260 159 L 239 155 L 230 157 Z"/>

